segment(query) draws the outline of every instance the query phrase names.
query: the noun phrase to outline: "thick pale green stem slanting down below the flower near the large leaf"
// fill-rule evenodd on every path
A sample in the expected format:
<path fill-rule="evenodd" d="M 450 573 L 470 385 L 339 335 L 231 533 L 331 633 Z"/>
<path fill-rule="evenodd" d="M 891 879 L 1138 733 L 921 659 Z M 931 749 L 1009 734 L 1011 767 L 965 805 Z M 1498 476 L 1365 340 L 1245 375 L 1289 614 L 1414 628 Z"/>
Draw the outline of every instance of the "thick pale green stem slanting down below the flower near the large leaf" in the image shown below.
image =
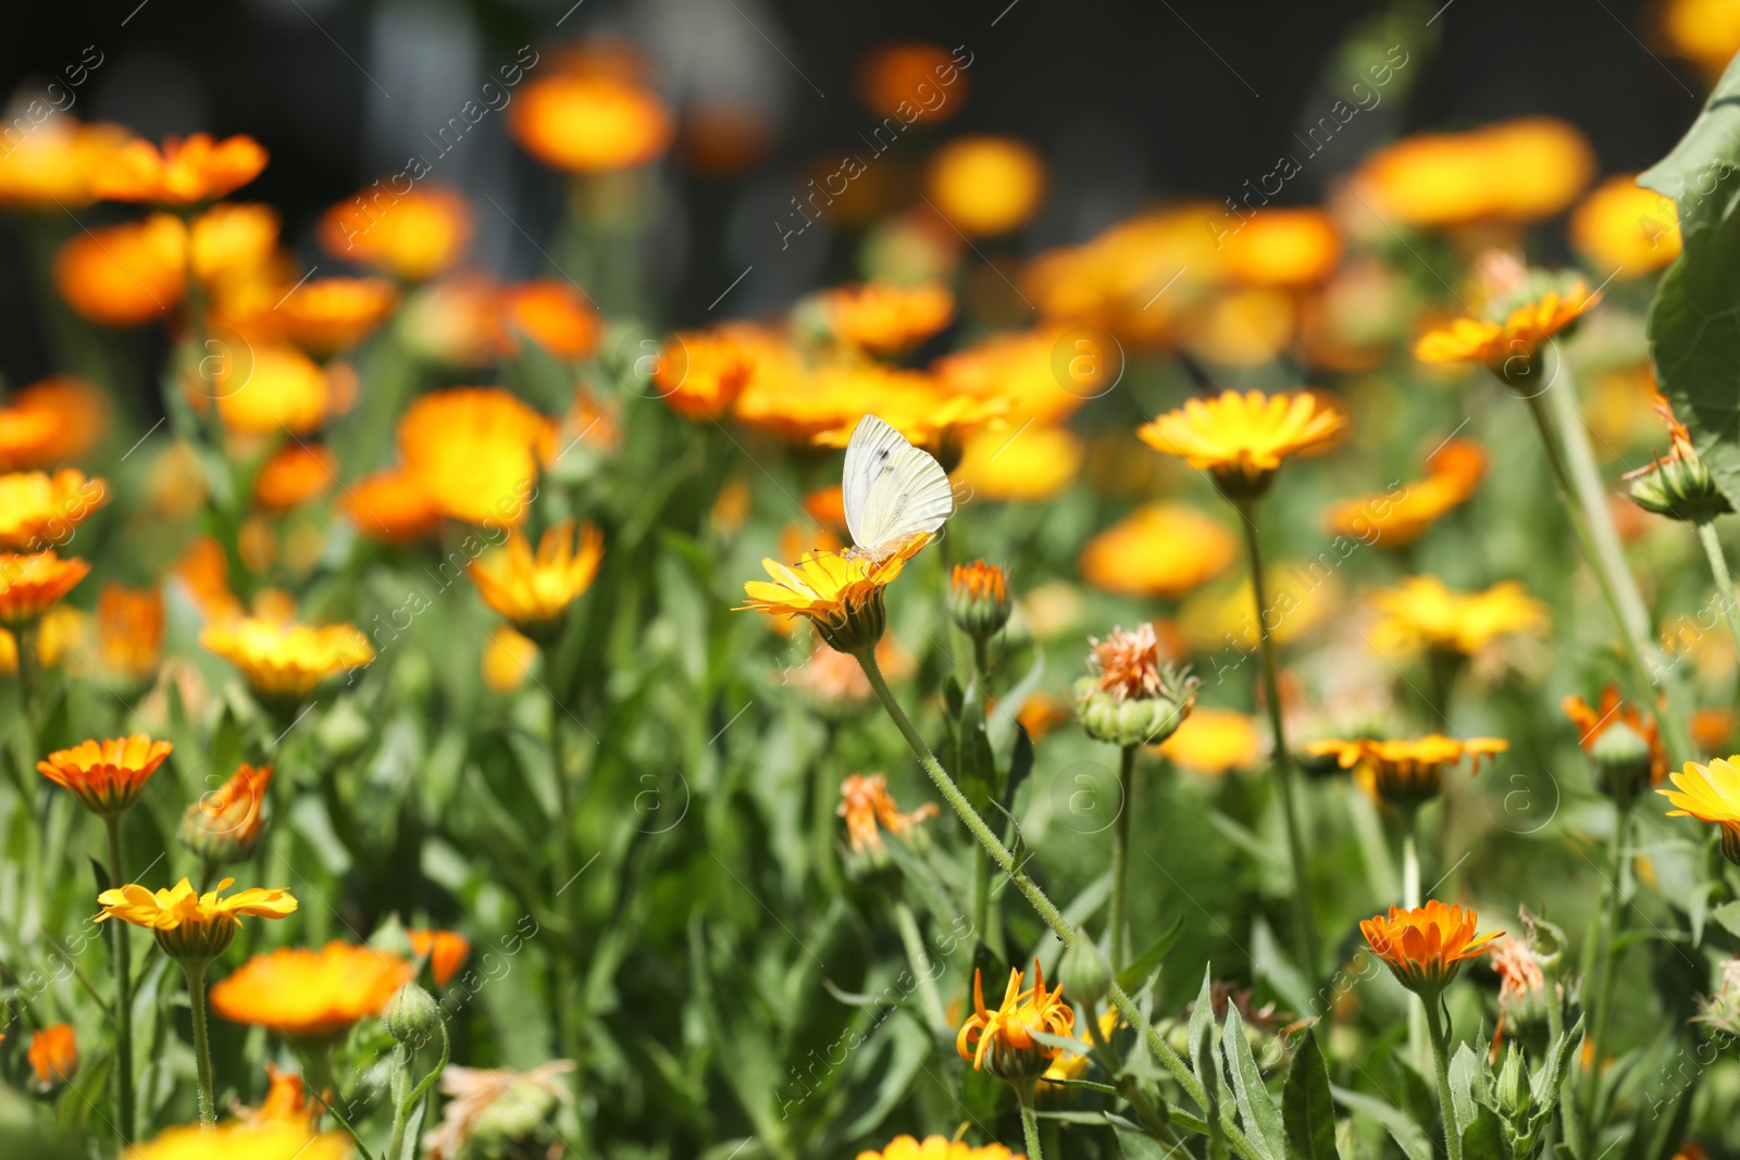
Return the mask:
<path fill-rule="evenodd" d="M 1557 374 L 1563 381 L 1528 398 L 1542 449 L 1547 452 L 1547 466 L 1559 485 L 1559 497 L 1571 518 L 1571 530 L 1576 532 L 1583 558 L 1596 574 L 1601 597 L 1608 602 L 1613 621 L 1620 626 L 1639 692 L 1665 689 L 1656 680 L 1656 673 L 1665 671 L 1667 664 L 1650 643 L 1650 612 L 1625 562 L 1625 551 L 1620 548 L 1613 513 L 1608 510 L 1608 494 L 1601 483 L 1601 473 L 1596 470 L 1594 452 L 1589 449 L 1589 433 L 1583 430 L 1583 417 L 1576 412 L 1576 386 L 1569 379 L 1563 355 L 1557 357 Z M 1690 760 L 1693 755 L 1690 734 L 1670 690 L 1662 706 L 1662 720 L 1669 760 L 1676 765 Z"/>

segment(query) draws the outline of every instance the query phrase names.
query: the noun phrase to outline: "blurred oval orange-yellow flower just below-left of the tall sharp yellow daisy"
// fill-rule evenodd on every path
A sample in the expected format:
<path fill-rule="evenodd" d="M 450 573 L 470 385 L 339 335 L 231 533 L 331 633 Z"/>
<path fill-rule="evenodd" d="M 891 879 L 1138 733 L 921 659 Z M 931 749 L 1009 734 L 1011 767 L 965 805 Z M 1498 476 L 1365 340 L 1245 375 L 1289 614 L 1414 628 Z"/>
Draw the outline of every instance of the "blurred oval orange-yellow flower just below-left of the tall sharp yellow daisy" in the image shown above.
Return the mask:
<path fill-rule="evenodd" d="M 1077 567 L 1094 588 L 1129 597 L 1181 597 L 1239 558 L 1239 537 L 1195 508 L 1136 508 L 1082 548 Z"/>

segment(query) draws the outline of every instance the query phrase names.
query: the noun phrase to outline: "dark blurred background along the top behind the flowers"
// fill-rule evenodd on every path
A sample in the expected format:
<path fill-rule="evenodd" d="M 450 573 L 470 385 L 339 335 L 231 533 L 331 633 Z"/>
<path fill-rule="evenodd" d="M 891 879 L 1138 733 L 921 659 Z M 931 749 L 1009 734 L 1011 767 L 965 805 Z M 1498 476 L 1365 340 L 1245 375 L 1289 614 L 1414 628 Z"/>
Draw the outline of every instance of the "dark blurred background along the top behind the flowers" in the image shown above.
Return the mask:
<path fill-rule="evenodd" d="M 1147 202 L 1220 200 L 1274 165 L 1295 130 L 1345 96 L 1347 43 L 1406 28 L 1406 85 L 1336 137 L 1282 198 L 1312 202 L 1324 179 L 1404 130 L 1549 113 L 1592 141 L 1601 172 L 1637 170 L 1690 123 L 1705 80 L 1651 49 L 1637 0 L 1451 0 L 1430 3 L 1225 3 L 1159 0 L 974 0 L 797 3 L 780 0 L 101 0 L 12 5 L 0 38 L 0 94 L 38 92 L 101 54 L 70 110 L 146 137 L 247 132 L 271 153 L 235 197 L 284 214 L 285 242 L 324 261 L 313 221 L 411 153 L 520 45 L 552 52 L 581 37 L 640 47 L 682 115 L 729 101 L 760 111 L 766 151 L 743 172 L 698 176 L 663 162 L 656 231 L 663 318 L 706 313 L 745 266 L 760 273 L 729 313 L 755 313 L 839 275 L 828 245 L 781 250 L 778 221 L 818 158 L 854 148 L 877 123 L 858 99 L 863 54 L 887 42 L 964 45 L 971 89 L 948 122 L 917 125 L 891 172 L 917 170 L 936 143 L 967 132 L 1023 137 L 1051 167 L 1044 212 L 1023 252 L 1091 237 Z M 94 52 L 92 52 L 94 49 Z M 536 75 L 536 70 L 532 70 Z M 1404 92 L 1406 89 L 1406 92 Z M 901 157 L 901 155 L 907 157 Z M 562 210 L 562 179 L 485 117 L 435 181 L 478 207 L 473 261 L 508 277 L 545 264 L 536 243 Z M 80 223 L 120 216 L 80 210 Z M 322 273 L 336 273 L 324 270 Z M 50 370 L 21 264 L 0 228 L 0 370 Z M 722 311 L 726 313 L 726 311 Z"/>

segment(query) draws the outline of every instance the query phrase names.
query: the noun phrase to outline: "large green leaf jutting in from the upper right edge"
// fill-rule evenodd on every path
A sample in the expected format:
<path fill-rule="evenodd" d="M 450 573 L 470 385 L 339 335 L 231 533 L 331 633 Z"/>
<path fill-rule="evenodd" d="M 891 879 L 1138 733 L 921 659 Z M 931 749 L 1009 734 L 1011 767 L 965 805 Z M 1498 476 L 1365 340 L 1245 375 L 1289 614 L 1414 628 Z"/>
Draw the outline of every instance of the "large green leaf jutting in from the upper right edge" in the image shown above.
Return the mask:
<path fill-rule="evenodd" d="M 1674 151 L 1637 181 L 1679 203 L 1684 238 L 1650 306 L 1656 377 L 1740 508 L 1740 59 Z"/>

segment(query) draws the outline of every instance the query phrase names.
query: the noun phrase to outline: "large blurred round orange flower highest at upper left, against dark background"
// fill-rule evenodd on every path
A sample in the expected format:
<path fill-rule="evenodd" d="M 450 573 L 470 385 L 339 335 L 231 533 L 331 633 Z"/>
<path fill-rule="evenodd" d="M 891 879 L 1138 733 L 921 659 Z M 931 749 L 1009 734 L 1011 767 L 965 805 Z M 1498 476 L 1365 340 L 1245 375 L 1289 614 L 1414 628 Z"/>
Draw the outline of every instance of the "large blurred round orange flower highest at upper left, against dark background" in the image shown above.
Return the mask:
<path fill-rule="evenodd" d="M 508 132 L 552 169 L 597 174 L 658 160 L 675 125 L 658 96 L 632 78 L 592 71 L 525 85 L 508 111 Z"/>

